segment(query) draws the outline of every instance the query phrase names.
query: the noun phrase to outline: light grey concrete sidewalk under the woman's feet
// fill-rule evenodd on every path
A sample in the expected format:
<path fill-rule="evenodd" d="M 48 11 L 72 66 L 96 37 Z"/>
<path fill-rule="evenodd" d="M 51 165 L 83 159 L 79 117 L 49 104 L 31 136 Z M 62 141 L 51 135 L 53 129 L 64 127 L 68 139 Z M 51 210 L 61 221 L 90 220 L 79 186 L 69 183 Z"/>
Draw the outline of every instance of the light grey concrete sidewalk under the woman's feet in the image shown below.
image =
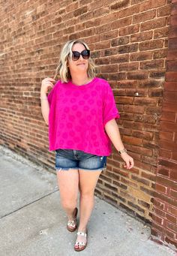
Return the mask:
<path fill-rule="evenodd" d="M 66 229 L 55 174 L 1 146 L 0 163 L 0 256 L 78 255 L 77 232 Z M 79 254 L 176 255 L 149 239 L 149 227 L 98 197 L 88 233 L 87 248 Z"/>

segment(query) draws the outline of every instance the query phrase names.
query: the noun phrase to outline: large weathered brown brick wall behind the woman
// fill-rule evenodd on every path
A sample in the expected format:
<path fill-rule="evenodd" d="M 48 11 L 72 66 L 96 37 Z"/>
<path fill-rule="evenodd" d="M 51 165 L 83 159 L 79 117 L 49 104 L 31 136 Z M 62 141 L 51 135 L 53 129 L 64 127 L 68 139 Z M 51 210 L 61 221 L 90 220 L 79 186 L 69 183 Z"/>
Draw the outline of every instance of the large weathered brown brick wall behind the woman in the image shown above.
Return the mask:
<path fill-rule="evenodd" d="M 96 194 L 151 223 L 170 7 L 169 0 L 1 2 L 0 143 L 54 170 L 40 82 L 55 74 L 62 44 L 83 38 L 98 76 L 113 88 L 121 137 L 135 160 L 124 170 L 113 147 Z"/>

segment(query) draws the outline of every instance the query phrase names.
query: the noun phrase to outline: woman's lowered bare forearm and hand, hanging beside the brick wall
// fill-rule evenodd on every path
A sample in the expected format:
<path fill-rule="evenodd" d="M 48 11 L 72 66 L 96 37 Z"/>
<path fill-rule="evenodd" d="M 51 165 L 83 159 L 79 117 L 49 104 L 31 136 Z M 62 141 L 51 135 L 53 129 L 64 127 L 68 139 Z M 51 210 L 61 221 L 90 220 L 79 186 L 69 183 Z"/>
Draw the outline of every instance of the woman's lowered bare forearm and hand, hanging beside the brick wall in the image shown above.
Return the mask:
<path fill-rule="evenodd" d="M 124 149 L 124 145 L 121 141 L 121 135 L 115 119 L 107 122 L 107 124 L 105 125 L 105 130 L 107 131 L 107 135 L 110 137 L 110 140 L 113 142 L 115 149 L 117 149 L 118 151 Z M 124 167 L 127 169 L 132 168 L 134 165 L 133 158 L 131 158 L 130 155 L 127 154 L 127 152 L 122 152 L 120 155 L 125 162 Z"/>

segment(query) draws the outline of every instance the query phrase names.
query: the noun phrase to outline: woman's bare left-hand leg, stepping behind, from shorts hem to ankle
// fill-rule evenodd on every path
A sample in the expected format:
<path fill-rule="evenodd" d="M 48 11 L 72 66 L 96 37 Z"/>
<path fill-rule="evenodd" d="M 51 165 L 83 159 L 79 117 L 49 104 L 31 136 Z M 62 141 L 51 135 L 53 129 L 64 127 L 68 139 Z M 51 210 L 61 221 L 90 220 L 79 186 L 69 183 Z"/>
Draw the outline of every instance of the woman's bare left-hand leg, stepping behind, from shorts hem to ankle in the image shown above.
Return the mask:
<path fill-rule="evenodd" d="M 60 170 L 57 172 L 58 188 L 62 207 L 68 215 L 68 220 L 74 220 L 74 209 L 77 206 L 77 195 L 79 191 L 79 171 Z"/>

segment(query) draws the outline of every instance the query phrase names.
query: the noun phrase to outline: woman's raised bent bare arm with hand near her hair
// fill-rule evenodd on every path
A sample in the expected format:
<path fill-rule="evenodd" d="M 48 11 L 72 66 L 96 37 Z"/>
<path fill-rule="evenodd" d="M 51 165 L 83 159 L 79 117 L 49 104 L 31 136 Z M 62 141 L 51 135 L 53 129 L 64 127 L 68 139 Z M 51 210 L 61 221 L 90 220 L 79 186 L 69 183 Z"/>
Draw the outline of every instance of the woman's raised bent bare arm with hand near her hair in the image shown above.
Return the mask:
<path fill-rule="evenodd" d="M 40 88 L 40 101 L 41 101 L 41 111 L 43 115 L 43 119 L 46 122 L 46 125 L 49 125 L 49 102 L 47 100 L 46 94 L 49 88 L 53 87 L 55 80 L 50 77 L 47 77 L 42 80 L 41 88 Z"/>

